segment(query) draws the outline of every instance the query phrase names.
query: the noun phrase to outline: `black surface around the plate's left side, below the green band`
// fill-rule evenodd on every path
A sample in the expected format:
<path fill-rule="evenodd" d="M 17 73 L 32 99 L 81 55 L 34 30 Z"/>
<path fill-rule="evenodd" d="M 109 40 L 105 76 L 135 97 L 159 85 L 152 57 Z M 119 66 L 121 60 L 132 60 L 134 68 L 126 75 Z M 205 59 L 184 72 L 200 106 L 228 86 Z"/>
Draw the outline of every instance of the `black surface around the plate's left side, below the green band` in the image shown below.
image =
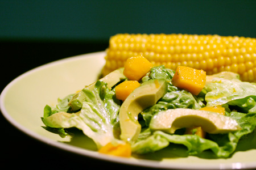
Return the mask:
<path fill-rule="evenodd" d="M 0 42 L 1 91 L 20 74 L 45 63 L 90 52 L 105 50 L 108 42 Z M 133 168 L 105 162 L 60 150 L 22 133 L 0 114 L 1 150 L 0 162 L 8 167 L 18 165 L 35 169 L 75 168 Z M 8 168 L 9 169 L 9 168 Z M 147 168 L 148 169 L 148 168 Z"/>

